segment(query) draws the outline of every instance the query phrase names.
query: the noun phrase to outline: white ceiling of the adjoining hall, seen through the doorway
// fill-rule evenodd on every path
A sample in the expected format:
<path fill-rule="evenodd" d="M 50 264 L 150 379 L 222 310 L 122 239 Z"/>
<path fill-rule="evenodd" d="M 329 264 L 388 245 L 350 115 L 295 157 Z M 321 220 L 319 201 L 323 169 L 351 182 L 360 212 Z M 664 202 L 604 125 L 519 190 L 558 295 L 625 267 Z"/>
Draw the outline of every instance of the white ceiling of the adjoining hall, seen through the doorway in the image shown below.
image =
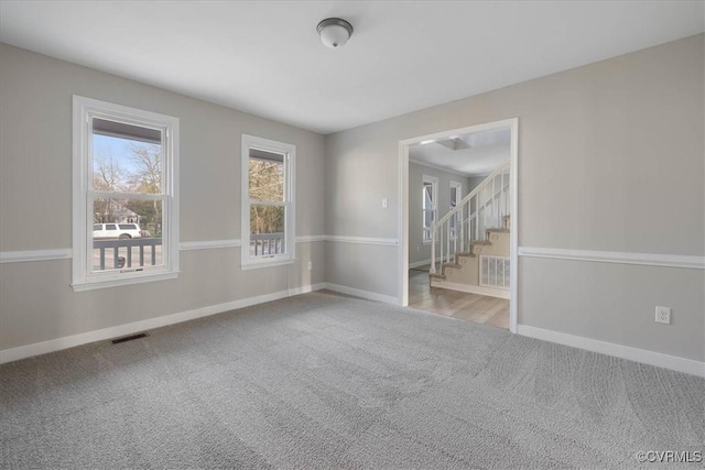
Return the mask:
<path fill-rule="evenodd" d="M 470 133 L 453 139 L 427 142 L 409 147 L 409 159 L 422 165 L 462 173 L 465 176 L 487 176 L 500 163 L 509 160 L 509 129 Z"/>

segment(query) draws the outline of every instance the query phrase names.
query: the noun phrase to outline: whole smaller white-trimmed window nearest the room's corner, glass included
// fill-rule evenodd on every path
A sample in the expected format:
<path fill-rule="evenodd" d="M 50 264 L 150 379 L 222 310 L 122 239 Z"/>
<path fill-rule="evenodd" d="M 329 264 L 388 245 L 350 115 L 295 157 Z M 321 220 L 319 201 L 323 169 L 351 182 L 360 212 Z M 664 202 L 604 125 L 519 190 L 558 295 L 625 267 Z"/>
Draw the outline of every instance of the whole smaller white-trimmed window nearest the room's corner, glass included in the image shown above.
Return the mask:
<path fill-rule="evenodd" d="M 296 146 L 242 134 L 242 269 L 294 262 Z"/>

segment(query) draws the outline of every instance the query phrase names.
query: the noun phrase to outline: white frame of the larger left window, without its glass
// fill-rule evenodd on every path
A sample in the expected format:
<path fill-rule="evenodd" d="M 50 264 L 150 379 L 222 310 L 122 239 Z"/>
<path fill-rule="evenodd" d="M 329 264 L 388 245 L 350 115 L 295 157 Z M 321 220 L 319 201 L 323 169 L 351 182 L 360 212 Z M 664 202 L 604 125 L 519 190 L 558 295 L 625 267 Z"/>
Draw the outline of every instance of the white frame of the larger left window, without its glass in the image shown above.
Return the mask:
<path fill-rule="evenodd" d="M 91 272 L 88 243 L 93 242 L 93 119 L 117 120 L 162 131 L 162 260 L 163 266 Z M 178 276 L 178 118 L 112 102 L 73 96 L 73 270 L 75 292 L 175 278 Z M 90 214 L 89 214 L 90 212 Z M 117 226 L 117 222 L 116 222 Z"/>

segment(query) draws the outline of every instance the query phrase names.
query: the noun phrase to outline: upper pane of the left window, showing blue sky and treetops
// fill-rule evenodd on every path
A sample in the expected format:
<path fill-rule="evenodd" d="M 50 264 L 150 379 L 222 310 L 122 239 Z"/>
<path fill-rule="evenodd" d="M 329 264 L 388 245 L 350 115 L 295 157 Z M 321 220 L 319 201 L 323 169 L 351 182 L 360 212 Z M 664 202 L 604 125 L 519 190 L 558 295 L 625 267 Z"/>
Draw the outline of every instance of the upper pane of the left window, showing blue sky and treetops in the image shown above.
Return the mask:
<path fill-rule="evenodd" d="M 161 131 L 101 119 L 93 129 L 94 189 L 162 193 Z"/>

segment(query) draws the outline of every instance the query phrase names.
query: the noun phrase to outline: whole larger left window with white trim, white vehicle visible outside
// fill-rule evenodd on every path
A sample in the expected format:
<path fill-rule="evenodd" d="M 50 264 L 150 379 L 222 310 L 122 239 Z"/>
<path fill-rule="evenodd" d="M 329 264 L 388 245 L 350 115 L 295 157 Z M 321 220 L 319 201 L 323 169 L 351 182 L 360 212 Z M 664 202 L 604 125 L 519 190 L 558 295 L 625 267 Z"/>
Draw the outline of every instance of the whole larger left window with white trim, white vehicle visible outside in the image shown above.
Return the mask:
<path fill-rule="evenodd" d="M 74 96 L 74 291 L 178 275 L 178 119 Z"/>

